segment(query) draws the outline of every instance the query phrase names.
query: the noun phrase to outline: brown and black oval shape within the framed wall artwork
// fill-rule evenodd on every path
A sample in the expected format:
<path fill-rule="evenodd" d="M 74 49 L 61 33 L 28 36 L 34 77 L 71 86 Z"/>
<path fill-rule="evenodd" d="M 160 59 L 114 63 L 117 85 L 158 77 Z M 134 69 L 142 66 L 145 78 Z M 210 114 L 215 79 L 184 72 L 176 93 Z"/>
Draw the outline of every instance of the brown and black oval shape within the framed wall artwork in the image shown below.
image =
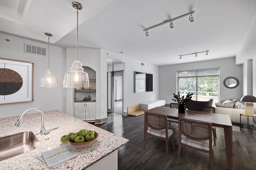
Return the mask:
<path fill-rule="evenodd" d="M 0 95 L 14 94 L 22 87 L 20 74 L 8 68 L 0 68 Z"/>

